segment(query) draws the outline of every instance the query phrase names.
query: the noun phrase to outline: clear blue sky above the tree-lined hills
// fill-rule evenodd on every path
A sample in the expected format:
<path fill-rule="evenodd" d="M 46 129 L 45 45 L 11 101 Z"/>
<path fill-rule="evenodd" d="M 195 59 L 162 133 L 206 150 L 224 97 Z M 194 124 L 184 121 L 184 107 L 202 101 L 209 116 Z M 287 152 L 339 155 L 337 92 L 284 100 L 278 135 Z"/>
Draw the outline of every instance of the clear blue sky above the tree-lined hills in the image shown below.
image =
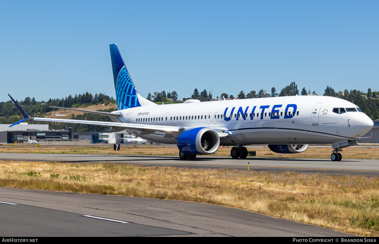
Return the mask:
<path fill-rule="evenodd" d="M 144 97 L 292 81 L 379 91 L 377 13 L 378 1 L 1 1 L 0 101 L 114 96 L 112 43 Z"/>

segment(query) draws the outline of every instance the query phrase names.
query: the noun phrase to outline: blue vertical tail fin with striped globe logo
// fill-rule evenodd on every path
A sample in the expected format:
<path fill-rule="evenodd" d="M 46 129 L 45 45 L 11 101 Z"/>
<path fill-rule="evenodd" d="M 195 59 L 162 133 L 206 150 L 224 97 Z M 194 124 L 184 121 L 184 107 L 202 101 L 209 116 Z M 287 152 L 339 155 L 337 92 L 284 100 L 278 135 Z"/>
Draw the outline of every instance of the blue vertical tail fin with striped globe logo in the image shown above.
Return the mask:
<path fill-rule="evenodd" d="M 156 105 L 138 94 L 117 44 L 109 45 L 113 69 L 114 89 L 119 110 L 138 106 Z"/>

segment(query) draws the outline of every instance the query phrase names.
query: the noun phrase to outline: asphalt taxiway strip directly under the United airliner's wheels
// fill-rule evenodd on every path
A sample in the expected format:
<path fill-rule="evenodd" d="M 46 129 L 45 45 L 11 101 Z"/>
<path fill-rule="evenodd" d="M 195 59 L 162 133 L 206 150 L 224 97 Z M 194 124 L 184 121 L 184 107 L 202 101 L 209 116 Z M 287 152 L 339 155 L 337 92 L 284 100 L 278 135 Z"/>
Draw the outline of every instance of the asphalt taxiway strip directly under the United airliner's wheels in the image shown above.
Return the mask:
<path fill-rule="evenodd" d="M 0 160 L 38 160 L 72 163 L 129 163 L 144 166 L 174 166 L 192 168 L 247 169 L 270 172 L 297 171 L 300 173 L 354 174 L 367 177 L 379 175 L 379 160 L 343 159 L 339 162 L 327 159 L 306 158 L 246 158 L 197 156 L 195 160 L 180 160 L 179 156 L 139 155 L 91 155 L 91 154 L 45 154 L 45 153 L 0 153 Z"/>

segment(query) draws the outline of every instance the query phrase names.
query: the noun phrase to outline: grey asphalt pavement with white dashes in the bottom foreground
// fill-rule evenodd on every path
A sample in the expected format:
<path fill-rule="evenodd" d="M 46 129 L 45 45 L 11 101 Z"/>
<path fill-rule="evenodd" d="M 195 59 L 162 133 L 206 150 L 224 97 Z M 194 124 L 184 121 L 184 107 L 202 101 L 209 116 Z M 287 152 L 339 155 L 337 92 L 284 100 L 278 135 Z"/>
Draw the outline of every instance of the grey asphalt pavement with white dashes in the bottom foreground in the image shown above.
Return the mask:
<path fill-rule="evenodd" d="M 0 188 L 0 212 L 14 237 L 353 236 L 205 203 L 14 188 Z"/>

